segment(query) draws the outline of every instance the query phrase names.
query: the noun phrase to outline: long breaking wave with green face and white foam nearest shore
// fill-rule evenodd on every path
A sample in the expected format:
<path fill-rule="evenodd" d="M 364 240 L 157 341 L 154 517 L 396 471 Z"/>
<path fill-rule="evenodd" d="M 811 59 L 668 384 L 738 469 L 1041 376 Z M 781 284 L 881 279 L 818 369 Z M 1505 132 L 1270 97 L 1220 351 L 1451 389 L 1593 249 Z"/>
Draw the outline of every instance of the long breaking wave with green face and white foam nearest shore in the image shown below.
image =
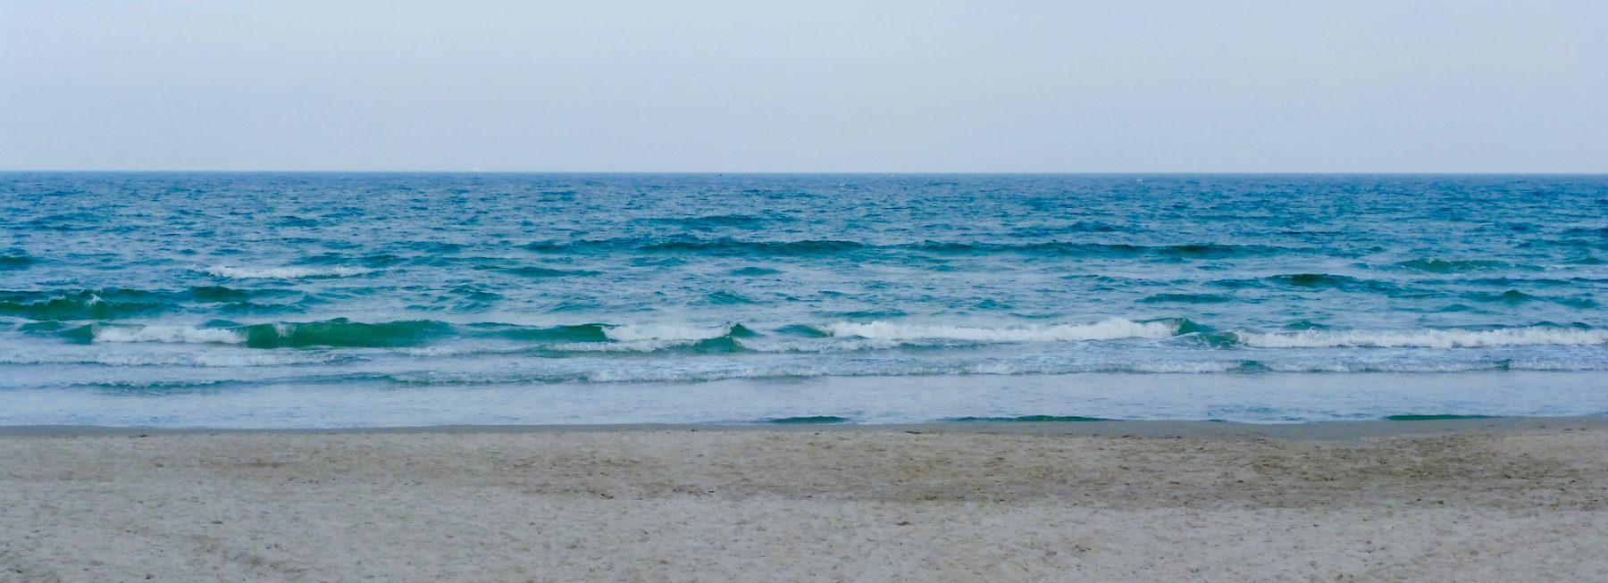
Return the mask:
<path fill-rule="evenodd" d="M 1134 321 L 1110 318 L 1087 324 L 952 326 L 899 321 L 838 321 L 791 324 L 759 332 L 725 324 L 568 324 L 519 326 L 502 323 L 455 324 L 436 320 L 363 323 L 347 318 L 301 323 L 207 326 L 114 324 L 71 326 L 61 321 L 24 323 L 27 334 L 50 334 L 69 342 L 232 344 L 249 349 L 412 349 L 413 357 L 471 357 L 526 353 L 854 353 L 876 350 L 946 350 L 1005 342 L 1166 340 L 1180 349 L 1479 349 L 1531 345 L 1603 345 L 1608 329 L 1540 323 L 1489 329 L 1285 329 L 1214 331 L 1185 318 Z M 1158 365 L 1159 366 L 1159 365 Z M 1190 361 L 1180 373 L 1195 371 Z M 1217 365 L 1206 365 L 1216 368 Z M 1158 369 L 1161 371 L 1161 369 Z M 1169 369 L 1174 371 L 1174 369 Z M 987 373 L 987 371 L 974 371 Z"/>

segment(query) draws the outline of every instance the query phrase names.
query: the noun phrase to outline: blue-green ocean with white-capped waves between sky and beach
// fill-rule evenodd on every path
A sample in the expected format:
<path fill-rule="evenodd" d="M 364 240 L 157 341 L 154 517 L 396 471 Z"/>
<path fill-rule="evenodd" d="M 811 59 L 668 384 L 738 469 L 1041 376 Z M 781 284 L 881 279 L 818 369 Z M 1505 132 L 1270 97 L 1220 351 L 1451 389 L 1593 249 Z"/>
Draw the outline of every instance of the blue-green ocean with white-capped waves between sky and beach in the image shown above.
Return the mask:
<path fill-rule="evenodd" d="M 1608 177 L 0 173 L 0 424 L 1608 413 Z"/>

